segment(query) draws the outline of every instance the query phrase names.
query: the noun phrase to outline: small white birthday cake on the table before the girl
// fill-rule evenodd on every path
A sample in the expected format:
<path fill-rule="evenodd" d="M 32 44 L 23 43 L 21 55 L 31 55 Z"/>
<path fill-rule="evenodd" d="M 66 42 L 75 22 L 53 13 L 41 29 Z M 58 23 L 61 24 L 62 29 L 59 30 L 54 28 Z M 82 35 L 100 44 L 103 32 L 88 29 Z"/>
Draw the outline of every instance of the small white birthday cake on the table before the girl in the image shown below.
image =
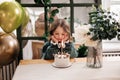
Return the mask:
<path fill-rule="evenodd" d="M 55 54 L 54 66 L 56 67 L 68 67 L 70 66 L 70 55 L 69 54 Z"/>

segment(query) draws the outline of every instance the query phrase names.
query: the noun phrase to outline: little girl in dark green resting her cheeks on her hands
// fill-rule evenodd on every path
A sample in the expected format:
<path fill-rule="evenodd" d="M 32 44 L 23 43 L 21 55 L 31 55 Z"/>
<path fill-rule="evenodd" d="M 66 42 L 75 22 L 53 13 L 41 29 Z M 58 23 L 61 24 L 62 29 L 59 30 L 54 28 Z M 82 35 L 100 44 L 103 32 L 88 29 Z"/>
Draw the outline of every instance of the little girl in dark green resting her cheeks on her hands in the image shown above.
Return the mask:
<path fill-rule="evenodd" d="M 47 60 L 54 59 L 54 54 L 61 50 L 70 54 L 70 58 L 77 57 L 78 53 L 70 39 L 70 26 L 64 19 L 55 20 L 51 25 L 50 40 L 43 46 L 42 57 Z"/>

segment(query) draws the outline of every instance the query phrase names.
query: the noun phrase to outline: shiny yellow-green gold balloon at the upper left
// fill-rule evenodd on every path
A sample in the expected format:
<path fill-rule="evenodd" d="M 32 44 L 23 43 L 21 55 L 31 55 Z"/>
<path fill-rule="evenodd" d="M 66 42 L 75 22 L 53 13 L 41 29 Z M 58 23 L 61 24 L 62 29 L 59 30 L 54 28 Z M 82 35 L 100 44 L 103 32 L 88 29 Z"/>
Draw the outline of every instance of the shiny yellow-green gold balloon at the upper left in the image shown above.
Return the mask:
<path fill-rule="evenodd" d="M 0 26 L 6 33 L 17 29 L 23 20 L 23 8 L 17 1 L 6 1 L 0 4 Z"/>

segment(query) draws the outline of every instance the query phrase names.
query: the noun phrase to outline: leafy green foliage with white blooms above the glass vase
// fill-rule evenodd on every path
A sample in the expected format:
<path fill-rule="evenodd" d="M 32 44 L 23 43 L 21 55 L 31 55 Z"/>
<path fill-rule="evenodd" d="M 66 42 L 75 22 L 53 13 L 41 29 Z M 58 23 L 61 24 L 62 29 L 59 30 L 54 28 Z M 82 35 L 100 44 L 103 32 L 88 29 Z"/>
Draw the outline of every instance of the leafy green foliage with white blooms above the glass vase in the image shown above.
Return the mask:
<path fill-rule="evenodd" d="M 93 35 L 92 40 L 111 40 L 118 35 L 119 23 L 116 21 L 115 13 L 103 10 L 101 7 L 95 8 L 89 13 L 89 23 L 92 25 L 89 35 Z"/>

